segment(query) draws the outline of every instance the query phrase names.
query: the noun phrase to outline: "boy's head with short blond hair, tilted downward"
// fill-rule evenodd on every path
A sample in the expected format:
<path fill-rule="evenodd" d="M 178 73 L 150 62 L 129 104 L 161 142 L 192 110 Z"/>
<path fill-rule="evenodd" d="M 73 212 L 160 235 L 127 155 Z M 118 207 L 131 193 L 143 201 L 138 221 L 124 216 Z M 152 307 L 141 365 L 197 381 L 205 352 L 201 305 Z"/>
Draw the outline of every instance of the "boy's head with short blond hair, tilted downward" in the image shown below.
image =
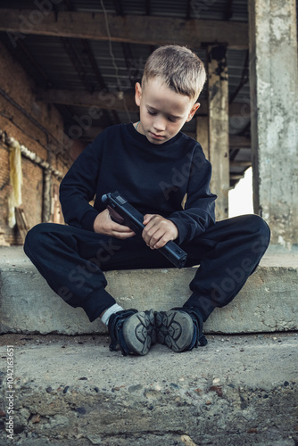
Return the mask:
<path fill-rule="evenodd" d="M 203 62 L 188 48 L 166 45 L 155 50 L 145 63 L 142 85 L 136 84 L 137 131 L 158 145 L 176 136 L 200 107 L 195 101 L 205 79 Z"/>

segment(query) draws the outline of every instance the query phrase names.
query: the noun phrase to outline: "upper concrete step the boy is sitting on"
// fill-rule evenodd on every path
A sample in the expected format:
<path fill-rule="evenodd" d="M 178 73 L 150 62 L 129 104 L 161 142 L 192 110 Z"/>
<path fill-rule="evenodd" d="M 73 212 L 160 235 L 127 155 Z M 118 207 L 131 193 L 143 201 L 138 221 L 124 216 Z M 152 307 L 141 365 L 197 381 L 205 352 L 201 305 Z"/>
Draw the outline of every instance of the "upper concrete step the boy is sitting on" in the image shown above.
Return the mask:
<path fill-rule="evenodd" d="M 0 275 L 0 333 L 106 333 L 49 288 L 21 247 L 0 248 Z M 109 271 L 107 290 L 124 308 L 169 310 L 186 301 L 194 275 L 195 268 Z M 297 330 L 297 278 L 297 253 L 268 252 L 236 299 L 211 314 L 205 333 Z"/>

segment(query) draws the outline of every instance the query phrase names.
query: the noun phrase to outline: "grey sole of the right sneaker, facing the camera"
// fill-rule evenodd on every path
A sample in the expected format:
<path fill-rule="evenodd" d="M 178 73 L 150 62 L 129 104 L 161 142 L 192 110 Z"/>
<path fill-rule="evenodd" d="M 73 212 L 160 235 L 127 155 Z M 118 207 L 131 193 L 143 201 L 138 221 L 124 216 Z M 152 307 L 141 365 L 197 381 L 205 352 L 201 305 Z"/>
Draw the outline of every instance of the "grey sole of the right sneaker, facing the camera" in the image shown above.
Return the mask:
<path fill-rule="evenodd" d="M 185 351 L 194 336 L 194 322 L 187 314 L 169 310 L 155 313 L 156 340 L 172 351 Z"/>

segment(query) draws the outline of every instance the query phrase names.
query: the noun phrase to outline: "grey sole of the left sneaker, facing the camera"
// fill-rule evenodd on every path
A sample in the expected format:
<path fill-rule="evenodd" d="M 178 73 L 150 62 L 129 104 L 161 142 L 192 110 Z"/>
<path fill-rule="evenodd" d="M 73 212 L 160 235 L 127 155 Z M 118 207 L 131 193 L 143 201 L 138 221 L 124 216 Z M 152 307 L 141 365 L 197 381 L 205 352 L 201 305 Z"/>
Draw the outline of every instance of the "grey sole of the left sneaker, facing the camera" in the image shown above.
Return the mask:
<path fill-rule="evenodd" d="M 137 355 L 146 355 L 156 342 L 153 310 L 140 311 L 123 324 L 123 336 L 128 348 Z"/>

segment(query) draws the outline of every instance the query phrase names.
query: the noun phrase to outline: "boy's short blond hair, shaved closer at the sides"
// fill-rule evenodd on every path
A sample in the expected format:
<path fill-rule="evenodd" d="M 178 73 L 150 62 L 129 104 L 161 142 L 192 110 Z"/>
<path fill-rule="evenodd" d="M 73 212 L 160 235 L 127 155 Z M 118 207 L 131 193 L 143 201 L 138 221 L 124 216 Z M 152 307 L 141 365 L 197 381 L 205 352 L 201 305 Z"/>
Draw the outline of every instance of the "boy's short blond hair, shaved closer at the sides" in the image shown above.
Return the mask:
<path fill-rule="evenodd" d="M 152 78 L 161 78 L 177 93 L 197 99 L 203 90 L 206 71 L 201 59 L 186 46 L 164 45 L 148 57 L 142 87 Z"/>

